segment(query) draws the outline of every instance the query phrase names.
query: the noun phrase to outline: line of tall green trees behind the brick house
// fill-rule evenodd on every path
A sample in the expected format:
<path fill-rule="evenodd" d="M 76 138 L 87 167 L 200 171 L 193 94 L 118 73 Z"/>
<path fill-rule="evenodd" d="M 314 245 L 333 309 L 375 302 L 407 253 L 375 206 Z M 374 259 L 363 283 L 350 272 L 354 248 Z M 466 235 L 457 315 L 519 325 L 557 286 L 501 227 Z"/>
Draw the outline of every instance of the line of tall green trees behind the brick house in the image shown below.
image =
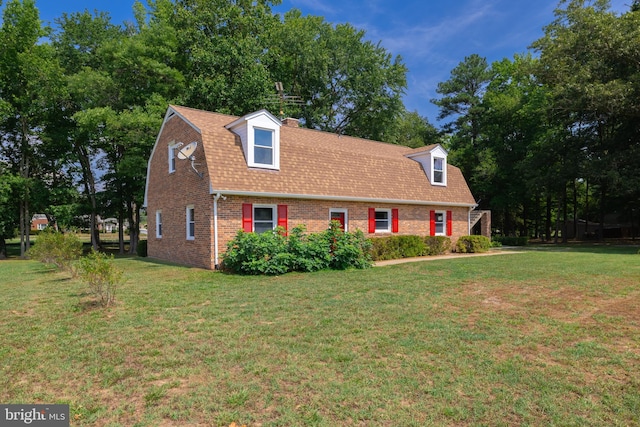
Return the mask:
<path fill-rule="evenodd" d="M 438 85 L 436 129 L 405 108 L 407 69 L 349 24 L 271 1 L 136 3 L 132 22 L 10 0 L 0 27 L 0 253 L 31 215 L 63 227 L 97 216 L 139 238 L 146 165 L 167 104 L 417 147 L 443 143 L 503 234 L 567 236 L 574 219 L 640 216 L 640 14 L 561 2 L 535 57 L 471 55 Z M 302 103 L 280 105 L 274 83 Z M 575 225 L 574 225 L 575 226 Z M 558 233 L 555 233 L 556 235 Z M 120 248 L 125 237 L 120 229 Z"/>

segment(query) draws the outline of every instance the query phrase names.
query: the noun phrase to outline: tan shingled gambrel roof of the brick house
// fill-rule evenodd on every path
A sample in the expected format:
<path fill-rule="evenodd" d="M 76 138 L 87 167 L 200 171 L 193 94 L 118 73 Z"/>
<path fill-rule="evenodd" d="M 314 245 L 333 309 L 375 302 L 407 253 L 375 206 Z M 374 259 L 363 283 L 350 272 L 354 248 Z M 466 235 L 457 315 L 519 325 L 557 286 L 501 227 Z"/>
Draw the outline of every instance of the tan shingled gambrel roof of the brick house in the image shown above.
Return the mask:
<path fill-rule="evenodd" d="M 283 125 L 279 170 L 252 168 L 228 129 L 238 119 L 174 105 L 167 111 L 165 124 L 184 120 L 202 136 L 212 193 L 475 206 L 460 169 L 447 165 L 447 185 L 431 185 L 421 163 L 408 157 L 437 144 L 412 149 Z"/>

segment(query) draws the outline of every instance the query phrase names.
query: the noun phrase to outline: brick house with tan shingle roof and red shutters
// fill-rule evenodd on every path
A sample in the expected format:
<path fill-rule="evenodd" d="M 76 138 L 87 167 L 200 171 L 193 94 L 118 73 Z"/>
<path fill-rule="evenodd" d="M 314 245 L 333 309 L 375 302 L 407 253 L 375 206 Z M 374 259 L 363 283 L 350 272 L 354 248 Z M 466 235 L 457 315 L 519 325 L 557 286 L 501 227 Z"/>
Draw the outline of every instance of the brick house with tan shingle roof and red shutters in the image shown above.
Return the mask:
<path fill-rule="evenodd" d="M 218 267 L 238 230 L 330 219 L 368 237 L 470 234 L 476 207 L 440 145 L 411 149 L 298 127 L 266 110 L 235 117 L 169 106 L 149 158 L 148 255 Z"/>

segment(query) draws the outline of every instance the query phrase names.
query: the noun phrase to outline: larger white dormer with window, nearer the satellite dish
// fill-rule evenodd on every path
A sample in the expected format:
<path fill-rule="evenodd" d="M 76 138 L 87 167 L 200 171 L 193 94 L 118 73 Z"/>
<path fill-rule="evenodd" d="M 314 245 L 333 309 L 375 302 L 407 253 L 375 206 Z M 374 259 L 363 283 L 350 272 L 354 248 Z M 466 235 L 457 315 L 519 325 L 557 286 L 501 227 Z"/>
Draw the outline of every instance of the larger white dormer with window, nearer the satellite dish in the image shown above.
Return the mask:
<path fill-rule="evenodd" d="M 240 117 L 225 127 L 240 137 L 249 167 L 278 170 L 280 126 L 280 120 L 267 110 L 260 110 Z"/>

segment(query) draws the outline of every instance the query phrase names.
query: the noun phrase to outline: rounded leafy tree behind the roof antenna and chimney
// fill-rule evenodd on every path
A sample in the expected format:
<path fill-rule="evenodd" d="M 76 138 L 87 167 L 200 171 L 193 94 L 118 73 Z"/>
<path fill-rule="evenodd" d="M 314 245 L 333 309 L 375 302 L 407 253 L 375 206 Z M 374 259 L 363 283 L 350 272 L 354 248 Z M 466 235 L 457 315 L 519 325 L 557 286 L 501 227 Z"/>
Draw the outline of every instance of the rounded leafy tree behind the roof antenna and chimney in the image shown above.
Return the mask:
<path fill-rule="evenodd" d="M 406 67 L 364 37 L 350 24 L 333 26 L 295 9 L 273 28 L 270 69 L 305 101 L 305 126 L 384 140 L 403 114 Z"/>

